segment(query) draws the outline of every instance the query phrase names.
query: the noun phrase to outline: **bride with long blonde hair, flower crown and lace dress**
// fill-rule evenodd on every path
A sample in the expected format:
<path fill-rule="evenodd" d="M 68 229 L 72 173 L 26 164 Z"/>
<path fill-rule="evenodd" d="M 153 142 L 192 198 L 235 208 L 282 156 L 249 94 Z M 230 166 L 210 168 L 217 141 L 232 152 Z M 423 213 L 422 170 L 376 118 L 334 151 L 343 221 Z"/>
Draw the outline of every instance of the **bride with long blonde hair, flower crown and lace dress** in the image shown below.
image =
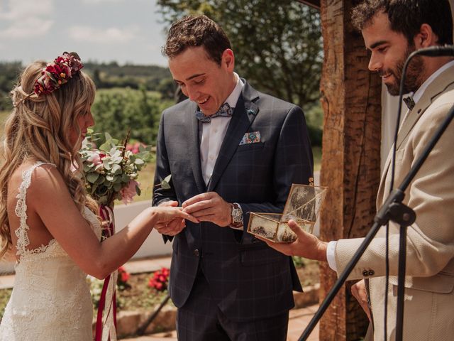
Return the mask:
<path fill-rule="evenodd" d="M 94 124 L 94 83 L 81 68 L 76 53 L 32 63 L 11 92 L 0 167 L 0 255 L 11 250 L 17 263 L 0 340 L 92 341 L 87 274 L 105 278 L 157 223 L 196 222 L 178 207 L 149 207 L 100 242 L 98 207 L 74 171 L 74 165 L 82 170 L 77 151 Z"/>

